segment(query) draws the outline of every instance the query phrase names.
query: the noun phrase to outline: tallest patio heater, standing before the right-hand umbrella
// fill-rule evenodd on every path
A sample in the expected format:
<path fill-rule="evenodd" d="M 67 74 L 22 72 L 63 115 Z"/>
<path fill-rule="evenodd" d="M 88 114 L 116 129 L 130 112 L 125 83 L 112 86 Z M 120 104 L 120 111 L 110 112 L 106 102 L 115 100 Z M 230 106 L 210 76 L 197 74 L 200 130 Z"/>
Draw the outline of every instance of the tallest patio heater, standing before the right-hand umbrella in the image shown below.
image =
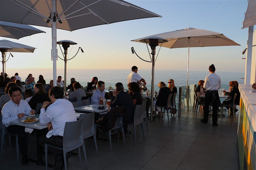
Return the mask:
<path fill-rule="evenodd" d="M 146 44 L 148 43 L 148 45 L 151 47 L 151 55 L 152 55 L 152 59 L 151 59 L 151 62 L 152 62 L 152 80 L 151 80 L 151 114 L 150 114 L 150 121 L 153 121 L 154 76 L 155 76 L 155 62 L 156 62 L 156 60 L 155 60 L 156 46 L 158 46 L 159 43 L 166 43 L 166 42 L 168 42 L 168 40 L 166 40 L 164 38 L 161 38 L 161 37 L 147 37 L 146 39 L 141 39 L 140 42 L 143 42 L 143 43 L 146 43 Z M 134 49 L 132 48 L 132 53 L 133 53 L 133 50 Z M 144 60 L 144 61 L 146 61 L 146 60 Z M 147 61 L 147 62 L 150 62 L 150 61 Z"/>

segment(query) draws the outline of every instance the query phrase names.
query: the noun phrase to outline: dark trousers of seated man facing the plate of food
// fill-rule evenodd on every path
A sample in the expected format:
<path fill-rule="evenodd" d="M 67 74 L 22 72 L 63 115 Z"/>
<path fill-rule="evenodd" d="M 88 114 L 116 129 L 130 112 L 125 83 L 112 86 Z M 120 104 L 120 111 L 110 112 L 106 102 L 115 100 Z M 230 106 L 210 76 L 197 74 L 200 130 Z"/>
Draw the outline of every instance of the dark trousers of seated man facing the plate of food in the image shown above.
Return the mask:
<path fill-rule="evenodd" d="M 22 155 L 27 154 L 28 153 L 27 135 L 25 132 L 25 127 L 18 126 L 18 125 L 10 125 L 7 127 L 7 129 L 9 133 L 12 133 L 18 136 L 18 144 L 19 144 L 21 154 Z"/>

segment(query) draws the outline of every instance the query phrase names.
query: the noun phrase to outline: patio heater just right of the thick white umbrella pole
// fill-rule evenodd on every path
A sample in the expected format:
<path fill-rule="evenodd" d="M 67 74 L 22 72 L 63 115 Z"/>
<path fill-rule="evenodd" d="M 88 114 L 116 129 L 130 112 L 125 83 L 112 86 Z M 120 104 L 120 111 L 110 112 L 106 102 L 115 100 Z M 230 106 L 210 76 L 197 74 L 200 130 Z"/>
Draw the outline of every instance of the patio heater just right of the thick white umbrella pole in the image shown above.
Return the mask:
<path fill-rule="evenodd" d="M 68 54 L 68 47 L 70 46 L 70 45 L 76 45 L 77 43 L 75 43 L 75 42 L 73 42 L 73 41 L 69 41 L 69 40 L 61 40 L 61 41 L 58 41 L 57 42 L 57 44 L 59 44 L 59 45 L 62 45 L 62 47 L 64 48 L 64 53 L 63 54 L 65 54 L 65 56 L 63 56 L 64 57 L 64 59 L 62 59 L 62 60 L 64 60 L 64 63 L 65 63 L 65 67 L 64 67 L 64 92 L 66 91 L 66 88 L 67 88 L 67 86 L 66 86 L 66 83 L 67 83 L 67 61 L 68 60 L 70 60 L 70 59 L 67 59 L 67 54 Z M 81 48 L 81 47 L 79 47 L 78 48 L 78 51 L 79 51 L 79 49 L 81 49 L 81 51 L 83 52 L 83 49 Z M 62 50 L 61 50 L 62 51 Z M 77 51 L 77 53 L 78 53 L 78 51 Z M 76 55 L 77 55 L 77 53 L 76 53 Z M 75 55 L 75 56 L 76 56 Z M 75 57 L 74 56 L 74 57 Z M 59 56 L 58 56 L 59 57 Z M 74 57 L 72 57 L 71 59 L 73 59 Z M 60 58 L 60 57 L 59 57 Z M 61 59 L 61 58 L 60 58 Z"/>

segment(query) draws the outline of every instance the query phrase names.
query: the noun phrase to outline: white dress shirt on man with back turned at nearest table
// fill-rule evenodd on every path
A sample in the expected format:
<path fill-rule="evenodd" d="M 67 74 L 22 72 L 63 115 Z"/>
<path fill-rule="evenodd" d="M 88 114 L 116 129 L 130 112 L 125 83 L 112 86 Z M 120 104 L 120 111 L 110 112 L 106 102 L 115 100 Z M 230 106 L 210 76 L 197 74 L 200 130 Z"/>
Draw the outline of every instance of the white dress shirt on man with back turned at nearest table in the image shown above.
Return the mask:
<path fill-rule="evenodd" d="M 67 99 L 59 98 L 46 111 L 43 108 L 40 110 L 40 124 L 46 125 L 51 122 L 54 136 L 63 136 L 65 123 L 74 121 L 77 121 L 76 112 Z"/>

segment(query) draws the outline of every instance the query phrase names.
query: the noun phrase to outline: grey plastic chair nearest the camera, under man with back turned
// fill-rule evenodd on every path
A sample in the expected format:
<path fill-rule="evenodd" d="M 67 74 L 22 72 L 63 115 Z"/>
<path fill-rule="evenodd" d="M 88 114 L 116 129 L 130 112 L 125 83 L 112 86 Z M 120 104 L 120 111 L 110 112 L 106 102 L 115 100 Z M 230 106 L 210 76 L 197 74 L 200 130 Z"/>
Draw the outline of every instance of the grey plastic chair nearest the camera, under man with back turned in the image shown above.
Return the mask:
<path fill-rule="evenodd" d="M 86 164 L 86 169 L 87 168 L 87 158 L 86 158 L 86 150 L 84 146 L 84 140 L 83 140 L 83 118 L 78 121 L 74 122 L 66 122 L 65 128 L 64 128 L 64 134 L 63 134 L 63 148 L 55 147 L 49 144 L 44 144 L 45 146 L 45 164 L 48 164 L 48 146 L 63 150 L 63 156 L 64 156 L 64 164 L 65 164 L 65 170 L 67 170 L 67 157 L 66 153 L 69 151 L 78 149 L 79 151 L 79 161 L 80 161 L 80 166 L 81 166 L 81 151 L 80 148 L 83 148 L 83 156 L 84 156 L 84 161 Z M 46 170 L 47 170 L 47 166 Z"/>

